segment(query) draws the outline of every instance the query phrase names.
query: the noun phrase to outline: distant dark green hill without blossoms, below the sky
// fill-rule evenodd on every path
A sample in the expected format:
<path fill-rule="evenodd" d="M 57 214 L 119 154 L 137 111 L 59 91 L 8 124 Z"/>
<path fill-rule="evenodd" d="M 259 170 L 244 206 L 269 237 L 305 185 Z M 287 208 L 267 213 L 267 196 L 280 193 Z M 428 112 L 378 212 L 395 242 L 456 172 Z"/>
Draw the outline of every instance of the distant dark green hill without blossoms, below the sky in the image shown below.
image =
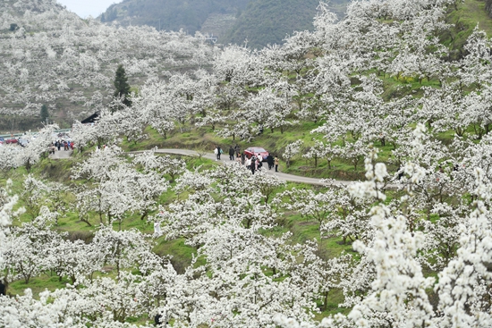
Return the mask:
<path fill-rule="evenodd" d="M 336 0 L 329 8 L 339 18 L 344 16 L 348 0 Z M 281 44 L 294 30 L 313 29 L 318 0 L 124 0 L 112 4 L 100 20 L 122 26 L 148 25 L 160 30 L 183 29 L 211 33 L 222 44 L 252 47 Z"/>

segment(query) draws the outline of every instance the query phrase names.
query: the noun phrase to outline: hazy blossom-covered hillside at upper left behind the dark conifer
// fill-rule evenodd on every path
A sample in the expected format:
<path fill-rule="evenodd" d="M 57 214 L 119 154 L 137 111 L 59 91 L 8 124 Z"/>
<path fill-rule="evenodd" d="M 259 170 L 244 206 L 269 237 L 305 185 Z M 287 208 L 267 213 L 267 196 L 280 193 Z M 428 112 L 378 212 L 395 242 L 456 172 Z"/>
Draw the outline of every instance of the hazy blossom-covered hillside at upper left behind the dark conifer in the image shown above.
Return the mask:
<path fill-rule="evenodd" d="M 49 108 L 49 121 L 64 128 L 93 114 L 113 99 L 118 63 L 136 89 L 149 77 L 207 66 L 213 57 L 211 46 L 182 32 L 81 20 L 55 1 L 0 5 L 3 133 L 40 127 L 41 105 Z"/>

